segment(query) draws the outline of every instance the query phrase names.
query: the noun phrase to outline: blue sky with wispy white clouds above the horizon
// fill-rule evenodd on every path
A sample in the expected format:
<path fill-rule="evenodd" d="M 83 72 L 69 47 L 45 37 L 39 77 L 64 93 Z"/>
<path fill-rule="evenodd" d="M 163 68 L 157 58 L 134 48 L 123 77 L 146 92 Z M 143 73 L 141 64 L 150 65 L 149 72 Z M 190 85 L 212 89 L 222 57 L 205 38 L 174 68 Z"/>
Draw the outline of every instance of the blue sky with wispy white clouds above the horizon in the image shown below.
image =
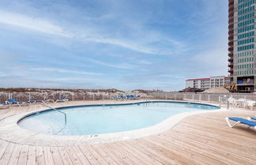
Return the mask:
<path fill-rule="evenodd" d="M 228 1 L 0 0 L 0 87 L 178 91 L 228 75 Z"/>

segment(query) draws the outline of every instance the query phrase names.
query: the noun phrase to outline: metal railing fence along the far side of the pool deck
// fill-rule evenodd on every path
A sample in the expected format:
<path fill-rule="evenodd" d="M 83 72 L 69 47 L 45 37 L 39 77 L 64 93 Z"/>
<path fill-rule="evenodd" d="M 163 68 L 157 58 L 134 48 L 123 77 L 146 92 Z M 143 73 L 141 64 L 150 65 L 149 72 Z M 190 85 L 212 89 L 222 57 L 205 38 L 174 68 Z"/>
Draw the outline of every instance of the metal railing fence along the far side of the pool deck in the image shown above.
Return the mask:
<path fill-rule="evenodd" d="M 40 92 L 0 92 L 0 103 L 5 103 L 6 99 L 17 99 L 17 101 L 25 102 L 30 100 L 45 100 L 45 99 L 60 99 L 61 96 L 66 96 L 70 101 L 85 101 L 85 100 L 110 100 L 114 96 L 119 97 L 120 93 L 40 93 Z M 126 96 L 126 93 L 122 94 Z M 150 92 L 146 94 L 137 94 L 140 99 L 174 99 L 174 100 L 190 100 L 198 102 L 220 103 L 221 98 L 232 96 L 234 99 L 250 99 L 256 101 L 256 95 L 251 93 L 202 93 L 202 92 Z"/>

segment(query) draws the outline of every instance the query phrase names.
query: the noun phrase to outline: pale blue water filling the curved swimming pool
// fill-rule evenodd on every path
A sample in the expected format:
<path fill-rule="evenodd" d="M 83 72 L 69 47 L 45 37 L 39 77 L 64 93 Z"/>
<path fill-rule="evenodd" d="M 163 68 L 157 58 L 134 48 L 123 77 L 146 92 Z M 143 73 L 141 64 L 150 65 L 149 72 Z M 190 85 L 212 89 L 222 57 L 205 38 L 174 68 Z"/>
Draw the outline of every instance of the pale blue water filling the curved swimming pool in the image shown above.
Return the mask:
<path fill-rule="evenodd" d="M 18 122 L 19 126 L 37 133 L 88 135 L 117 133 L 156 125 L 174 114 L 216 110 L 198 103 L 153 102 L 126 105 L 65 107 L 58 111 L 32 114 Z"/>

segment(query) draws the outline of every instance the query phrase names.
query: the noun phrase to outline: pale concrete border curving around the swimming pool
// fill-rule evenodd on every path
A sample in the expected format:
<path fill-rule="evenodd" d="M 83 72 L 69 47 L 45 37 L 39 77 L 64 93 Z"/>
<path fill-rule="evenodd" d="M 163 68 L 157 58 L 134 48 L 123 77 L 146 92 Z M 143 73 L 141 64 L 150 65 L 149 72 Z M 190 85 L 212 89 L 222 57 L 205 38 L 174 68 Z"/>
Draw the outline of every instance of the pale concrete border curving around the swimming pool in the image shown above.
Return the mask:
<path fill-rule="evenodd" d="M 149 102 L 159 102 L 160 100 L 150 100 Z M 145 101 L 134 101 L 130 103 L 143 103 Z M 187 102 L 187 101 L 167 101 L 163 100 L 160 102 L 183 102 L 183 103 L 196 103 L 196 102 Z M 120 104 L 116 102 L 117 104 Z M 111 104 L 116 104 L 111 103 Z M 128 104 L 122 103 L 122 104 Z M 199 103 L 200 104 L 200 103 Z M 215 106 L 213 103 L 201 103 L 207 104 L 210 106 Z M 97 104 L 100 106 L 100 104 Z M 82 105 L 79 105 L 82 106 Z M 89 105 L 85 105 L 89 106 Z M 74 106 L 60 106 L 60 107 L 74 107 Z M 55 108 L 60 108 L 55 107 Z M 47 111 L 43 109 L 41 111 Z M 98 135 L 81 135 L 81 136 L 58 136 L 58 135 L 47 135 L 43 133 L 35 133 L 24 129 L 21 126 L 17 125 L 17 122 L 20 121 L 24 116 L 29 114 L 35 114 L 40 111 L 28 111 L 22 114 L 16 114 L 9 118 L 4 118 L 0 121 L 0 138 L 5 141 L 11 141 L 17 144 L 30 144 L 30 145 L 44 145 L 44 146 L 67 146 L 67 145 L 79 145 L 79 144 L 102 144 L 114 141 L 126 141 L 129 139 L 137 139 L 140 137 L 146 137 L 157 133 L 163 133 L 168 129 L 171 129 L 173 126 L 178 124 L 183 118 L 186 118 L 190 115 L 201 114 L 201 113 L 213 113 L 216 111 L 226 111 L 224 108 L 213 111 L 194 111 L 194 112 L 185 112 L 181 114 L 175 114 L 170 118 L 160 122 L 154 126 L 145 127 L 143 129 L 134 129 L 126 132 L 119 133 L 106 133 Z"/>

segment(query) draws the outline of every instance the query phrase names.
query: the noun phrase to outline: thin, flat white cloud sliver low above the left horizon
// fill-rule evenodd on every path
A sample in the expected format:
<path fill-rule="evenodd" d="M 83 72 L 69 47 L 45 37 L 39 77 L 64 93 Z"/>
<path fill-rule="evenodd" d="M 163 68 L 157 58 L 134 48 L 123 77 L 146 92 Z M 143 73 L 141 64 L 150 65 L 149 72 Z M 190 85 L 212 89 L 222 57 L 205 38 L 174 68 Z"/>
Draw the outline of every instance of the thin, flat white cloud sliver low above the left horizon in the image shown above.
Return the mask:
<path fill-rule="evenodd" d="M 46 71 L 46 72 L 58 72 L 58 73 L 87 74 L 87 75 L 103 75 L 103 73 L 93 73 L 93 72 L 84 72 L 84 71 L 74 71 L 74 70 L 58 69 L 58 68 L 31 68 L 30 70 Z"/>

